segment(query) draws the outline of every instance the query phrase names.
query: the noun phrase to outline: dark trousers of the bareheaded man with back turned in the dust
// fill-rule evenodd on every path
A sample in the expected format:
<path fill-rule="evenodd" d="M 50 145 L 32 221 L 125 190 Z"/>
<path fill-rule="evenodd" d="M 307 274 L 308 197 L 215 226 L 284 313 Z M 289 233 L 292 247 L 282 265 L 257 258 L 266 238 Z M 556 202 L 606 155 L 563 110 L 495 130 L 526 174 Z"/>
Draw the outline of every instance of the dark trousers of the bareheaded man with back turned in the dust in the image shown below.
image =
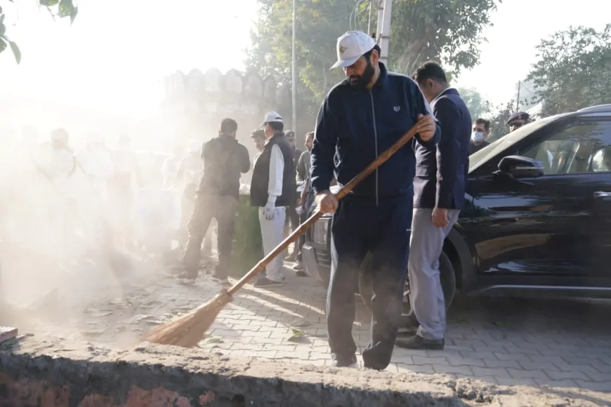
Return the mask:
<path fill-rule="evenodd" d="M 226 277 L 230 271 L 231 251 L 233 246 L 233 230 L 237 199 L 233 196 L 218 196 L 197 194 L 195 208 L 189 222 L 189 237 L 183 260 L 188 276 L 195 278 L 199 268 L 202 241 L 212 218 L 216 219 L 218 266 L 217 276 Z"/>

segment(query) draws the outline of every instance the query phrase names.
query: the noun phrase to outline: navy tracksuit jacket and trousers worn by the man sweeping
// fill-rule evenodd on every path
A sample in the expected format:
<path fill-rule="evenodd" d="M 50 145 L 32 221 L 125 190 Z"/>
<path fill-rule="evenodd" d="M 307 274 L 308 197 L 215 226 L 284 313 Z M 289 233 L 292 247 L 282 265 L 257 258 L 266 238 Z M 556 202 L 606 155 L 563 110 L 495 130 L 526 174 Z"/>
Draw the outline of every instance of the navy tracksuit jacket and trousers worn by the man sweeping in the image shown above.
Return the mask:
<path fill-rule="evenodd" d="M 339 185 L 348 183 L 414 126 L 419 114 L 431 114 L 412 79 L 379 66 L 381 74 L 372 89 L 357 90 L 343 81 L 320 107 L 310 167 L 317 193 L 329 189 L 334 175 Z M 416 142 L 434 146 L 439 138 L 438 126 L 435 138 L 423 142 L 416 136 Z M 331 220 L 327 328 L 336 360 L 354 358 L 354 293 L 358 269 L 371 253 L 372 342 L 362 356 L 368 368 L 383 369 L 390 363 L 407 276 L 415 171 L 416 156 L 408 143 L 340 201 Z"/>

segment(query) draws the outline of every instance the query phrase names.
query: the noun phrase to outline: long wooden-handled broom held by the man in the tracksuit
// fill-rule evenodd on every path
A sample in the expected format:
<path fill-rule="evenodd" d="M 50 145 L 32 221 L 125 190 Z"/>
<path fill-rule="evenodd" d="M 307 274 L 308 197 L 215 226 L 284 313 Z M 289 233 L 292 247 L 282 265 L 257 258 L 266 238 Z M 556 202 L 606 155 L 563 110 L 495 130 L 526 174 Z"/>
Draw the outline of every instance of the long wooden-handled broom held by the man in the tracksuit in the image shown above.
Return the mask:
<path fill-rule="evenodd" d="M 365 168 L 361 173 L 359 173 L 355 178 L 350 180 L 348 184 L 346 184 L 336 195 L 336 199 L 342 199 L 344 196 L 348 195 L 350 191 L 353 190 L 362 180 L 371 175 L 376 168 L 384 164 L 388 159 L 390 159 L 395 152 L 398 151 L 401 147 L 407 144 L 409 140 L 412 140 L 414 135 L 418 133 L 418 124 L 414 125 L 409 129 L 407 133 L 402 135 L 402 137 L 395 142 L 389 149 L 383 152 L 378 158 L 375 159 L 372 164 L 369 164 L 367 168 Z M 211 301 L 206 302 L 203 305 L 200 305 L 196 309 L 193 309 L 188 314 L 180 316 L 178 319 L 174 321 L 170 321 L 168 323 L 164 323 L 160 326 L 157 326 L 153 331 L 143 336 L 142 340 L 147 342 L 158 343 L 160 345 L 173 345 L 173 346 L 181 346 L 181 347 L 195 347 L 197 343 L 202 340 L 204 333 L 208 331 L 216 316 L 221 309 L 228 305 L 233 300 L 233 295 L 237 293 L 237 291 L 242 288 L 246 283 L 248 283 L 254 276 L 259 274 L 265 269 L 265 266 L 268 263 L 280 255 L 280 253 L 284 252 L 284 250 L 289 246 L 289 244 L 293 243 L 298 239 L 299 236 L 306 233 L 314 223 L 320 219 L 323 213 L 319 210 L 306 222 L 303 222 L 299 227 L 291 233 L 287 239 L 284 239 L 282 243 L 280 243 L 271 253 L 265 256 L 263 260 L 258 262 L 247 274 L 242 276 L 237 283 L 235 283 L 231 288 L 221 288 L 221 292 L 218 293 Z"/>

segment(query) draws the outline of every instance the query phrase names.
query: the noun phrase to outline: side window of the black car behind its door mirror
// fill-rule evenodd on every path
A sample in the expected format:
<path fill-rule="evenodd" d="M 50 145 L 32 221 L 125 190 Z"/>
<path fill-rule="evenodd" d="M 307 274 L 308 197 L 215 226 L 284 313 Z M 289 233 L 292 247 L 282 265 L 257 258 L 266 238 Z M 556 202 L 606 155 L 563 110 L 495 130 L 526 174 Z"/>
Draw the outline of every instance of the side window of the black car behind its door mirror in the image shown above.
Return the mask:
<path fill-rule="evenodd" d="M 604 168 L 593 166 L 593 159 L 603 157 L 603 153 L 596 154 L 607 148 L 611 148 L 610 120 L 577 120 L 520 155 L 541 161 L 546 175 L 590 173 Z"/>

